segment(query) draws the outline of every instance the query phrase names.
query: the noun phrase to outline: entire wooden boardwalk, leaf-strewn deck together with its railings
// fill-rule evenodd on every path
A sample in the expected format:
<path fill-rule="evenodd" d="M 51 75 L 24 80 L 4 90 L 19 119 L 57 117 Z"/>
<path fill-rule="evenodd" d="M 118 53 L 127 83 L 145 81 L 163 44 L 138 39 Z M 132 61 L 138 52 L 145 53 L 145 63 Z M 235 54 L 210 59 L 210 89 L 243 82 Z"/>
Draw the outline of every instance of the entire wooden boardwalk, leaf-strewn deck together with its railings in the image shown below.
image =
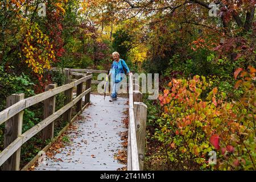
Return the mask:
<path fill-rule="evenodd" d="M 57 87 L 56 84 L 49 84 L 46 92 L 28 98 L 24 98 L 24 93 L 12 94 L 6 98 L 7 108 L 0 112 L 0 125 L 5 123 L 5 149 L 0 152 L 1 169 L 3 171 L 20 170 L 20 147 L 39 132 L 42 131 L 43 141 L 54 142 L 54 121 L 61 115 L 64 121 L 73 123 L 72 126 L 76 127 L 76 130 L 71 127 L 65 134 L 66 140 L 69 139 L 71 143 L 63 148 L 56 147 L 58 150 L 46 158 L 46 164 L 40 164 L 34 168 L 35 170 L 95 171 L 117 170 L 125 167 L 126 165 L 119 164 L 115 160 L 115 155 L 122 147 L 119 134 L 127 131 L 122 123 L 122 119 L 125 117 L 123 111 L 129 108 L 127 169 L 129 171 L 143 170 L 147 106 L 142 102 L 138 79 L 129 75 L 129 97 L 109 102 L 110 97 L 106 97 L 104 100 L 104 96 L 91 94 L 92 72 L 107 71 L 65 68 L 64 72 L 65 85 Z M 75 79 L 72 78 L 74 75 Z M 72 97 L 74 89 L 76 89 L 75 98 Z M 64 106 L 56 111 L 56 95 L 59 93 L 64 93 L 65 100 Z M 129 106 L 126 105 L 128 99 Z M 82 104 L 82 100 L 84 100 L 84 104 Z M 22 133 L 23 110 L 39 102 L 44 103 L 44 119 Z M 92 105 L 88 107 L 89 102 Z M 77 113 L 75 116 L 72 115 L 74 106 L 76 106 Z M 75 119 L 79 114 L 84 119 L 77 121 Z M 47 150 L 49 146 L 51 143 L 43 150 Z M 22 170 L 30 168 L 38 158 L 41 158 L 41 154 L 42 152 L 36 155 Z"/>

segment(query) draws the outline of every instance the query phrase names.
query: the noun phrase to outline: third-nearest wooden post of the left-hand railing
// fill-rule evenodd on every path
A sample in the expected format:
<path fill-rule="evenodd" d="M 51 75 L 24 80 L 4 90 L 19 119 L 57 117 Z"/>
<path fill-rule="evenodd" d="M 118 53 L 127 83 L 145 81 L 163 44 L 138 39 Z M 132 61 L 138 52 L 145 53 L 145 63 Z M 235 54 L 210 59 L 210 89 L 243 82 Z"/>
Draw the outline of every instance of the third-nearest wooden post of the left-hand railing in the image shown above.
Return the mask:
<path fill-rule="evenodd" d="M 69 84 L 69 82 L 72 82 L 72 80 L 67 79 L 67 84 Z M 69 102 L 73 100 L 73 89 L 74 88 L 72 87 L 64 92 L 64 95 L 65 95 L 64 105 L 67 105 Z M 64 121 L 71 122 L 71 119 L 72 119 L 72 107 L 67 111 L 65 111 L 65 113 L 63 114 Z"/>

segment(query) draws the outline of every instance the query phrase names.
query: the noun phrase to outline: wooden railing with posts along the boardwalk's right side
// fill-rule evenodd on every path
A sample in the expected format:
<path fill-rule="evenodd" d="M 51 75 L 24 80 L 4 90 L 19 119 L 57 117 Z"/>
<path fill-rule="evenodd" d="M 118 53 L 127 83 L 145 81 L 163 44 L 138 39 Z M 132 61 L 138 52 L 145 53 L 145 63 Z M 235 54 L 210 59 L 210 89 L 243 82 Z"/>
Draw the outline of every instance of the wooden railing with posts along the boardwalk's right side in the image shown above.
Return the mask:
<path fill-rule="evenodd" d="M 129 75 L 129 131 L 127 145 L 127 170 L 143 170 L 146 143 L 147 106 L 142 102 L 139 81 Z"/>

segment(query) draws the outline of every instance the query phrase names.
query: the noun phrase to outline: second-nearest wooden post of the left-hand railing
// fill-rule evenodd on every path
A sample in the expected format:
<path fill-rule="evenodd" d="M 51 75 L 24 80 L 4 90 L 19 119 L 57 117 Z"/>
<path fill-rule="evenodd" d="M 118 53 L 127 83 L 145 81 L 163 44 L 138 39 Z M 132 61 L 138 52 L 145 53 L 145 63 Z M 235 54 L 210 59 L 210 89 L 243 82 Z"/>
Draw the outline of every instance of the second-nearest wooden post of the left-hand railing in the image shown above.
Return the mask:
<path fill-rule="evenodd" d="M 56 84 L 49 84 L 46 86 L 46 91 L 55 89 L 56 86 L 57 86 Z M 46 119 L 53 113 L 55 113 L 55 96 L 50 97 L 47 100 L 44 100 L 44 119 Z M 53 132 L 54 132 L 54 121 L 43 129 L 43 135 L 42 135 L 43 142 L 46 142 L 47 139 L 52 139 L 54 137 Z"/>

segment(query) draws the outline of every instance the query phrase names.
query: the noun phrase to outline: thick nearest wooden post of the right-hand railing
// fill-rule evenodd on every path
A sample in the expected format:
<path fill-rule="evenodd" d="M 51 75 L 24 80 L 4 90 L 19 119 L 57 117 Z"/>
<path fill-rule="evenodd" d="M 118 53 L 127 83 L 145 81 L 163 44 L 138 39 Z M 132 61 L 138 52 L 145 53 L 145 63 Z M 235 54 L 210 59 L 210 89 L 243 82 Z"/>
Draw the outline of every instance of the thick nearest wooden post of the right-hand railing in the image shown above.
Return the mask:
<path fill-rule="evenodd" d="M 134 121 L 138 146 L 139 170 L 144 166 L 144 148 L 146 144 L 147 106 L 142 102 L 134 102 Z"/>

